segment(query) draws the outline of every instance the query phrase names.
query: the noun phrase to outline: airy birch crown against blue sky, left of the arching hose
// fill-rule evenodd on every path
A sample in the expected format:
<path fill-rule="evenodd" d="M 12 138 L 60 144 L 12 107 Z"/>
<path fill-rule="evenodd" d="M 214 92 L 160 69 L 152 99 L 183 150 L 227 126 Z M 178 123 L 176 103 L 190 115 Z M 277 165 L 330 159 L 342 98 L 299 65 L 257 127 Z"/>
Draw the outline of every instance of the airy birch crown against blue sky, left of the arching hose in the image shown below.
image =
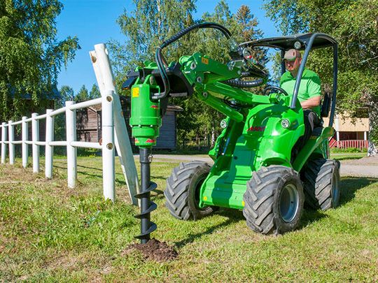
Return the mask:
<path fill-rule="evenodd" d="M 134 0 L 136 9 L 125 10 L 118 18 L 121 32 L 127 36 L 125 45 L 109 43 L 115 73 L 125 79 L 130 68 L 142 66 L 145 60 L 154 60 L 155 48 L 183 27 L 193 24 L 194 0 Z M 179 59 L 176 48 L 167 48 L 167 55 Z"/>

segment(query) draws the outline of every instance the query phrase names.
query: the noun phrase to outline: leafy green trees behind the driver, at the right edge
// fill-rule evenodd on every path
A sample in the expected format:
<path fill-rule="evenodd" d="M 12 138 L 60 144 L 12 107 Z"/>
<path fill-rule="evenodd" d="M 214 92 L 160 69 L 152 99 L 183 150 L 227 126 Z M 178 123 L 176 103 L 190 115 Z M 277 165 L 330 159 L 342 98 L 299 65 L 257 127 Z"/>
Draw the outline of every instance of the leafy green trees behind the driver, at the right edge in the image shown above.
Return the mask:
<path fill-rule="evenodd" d="M 337 110 L 357 115 L 370 108 L 370 138 L 378 141 L 378 1 L 376 0 L 266 0 L 267 15 L 283 34 L 320 31 L 339 43 Z M 332 82 L 332 54 L 317 50 L 309 68 L 318 73 L 323 86 Z"/>

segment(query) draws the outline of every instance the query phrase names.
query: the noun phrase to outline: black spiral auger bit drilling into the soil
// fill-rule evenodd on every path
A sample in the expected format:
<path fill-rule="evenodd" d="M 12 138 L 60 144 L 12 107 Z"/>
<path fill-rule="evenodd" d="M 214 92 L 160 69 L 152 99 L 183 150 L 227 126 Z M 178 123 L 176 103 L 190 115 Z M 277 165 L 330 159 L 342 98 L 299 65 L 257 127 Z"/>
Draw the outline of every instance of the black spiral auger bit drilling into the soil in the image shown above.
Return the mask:
<path fill-rule="evenodd" d="M 151 222 L 150 213 L 158 207 L 156 203 L 151 201 L 151 191 L 156 189 L 158 185 L 150 180 L 151 148 L 140 148 L 139 160 L 141 162 L 141 191 L 135 197 L 141 200 L 141 213 L 135 217 L 141 219 L 141 233 L 135 238 L 140 239 L 141 243 L 145 244 L 150 240 L 150 233 L 157 228 L 156 224 Z"/>

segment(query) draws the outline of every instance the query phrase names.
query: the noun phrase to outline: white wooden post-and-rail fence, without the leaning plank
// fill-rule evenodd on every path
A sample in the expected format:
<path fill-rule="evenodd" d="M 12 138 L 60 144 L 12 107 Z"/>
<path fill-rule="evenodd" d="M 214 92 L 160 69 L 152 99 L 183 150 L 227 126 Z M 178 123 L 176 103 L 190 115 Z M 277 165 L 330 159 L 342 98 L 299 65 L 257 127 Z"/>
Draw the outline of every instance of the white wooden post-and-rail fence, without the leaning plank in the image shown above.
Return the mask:
<path fill-rule="evenodd" d="M 76 110 L 102 104 L 102 145 L 99 143 L 80 142 L 76 140 Z M 54 140 L 54 117 L 66 114 L 66 140 Z M 46 119 L 45 141 L 39 140 L 39 120 Z M 31 122 L 31 140 L 28 140 L 28 123 Z M 22 140 L 15 140 L 15 126 L 21 125 Z M 40 171 L 39 147 L 45 146 L 45 177 L 52 178 L 53 150 L 56 146 L 64 146 L 67 151 L 67 182 L 73 188 L 77 179 L 77 147 L 97 148 L 102 150 L 102 173 L 104 197 L 115 199 L 115 168 L 114 168 L 114 119 L 113 91 L 102 98 L 75 103 L 66 101 L 66 106 L 57 110 L 47 109 L 43 115 L 32 113 L 31 117 L 22 117 L 18 122 L 3 122 L 1 128 L 1 164 L 6 162 L 8 145 L 9 164 L 15 164 L 15 145 L 22 145 L 22 166 L 29 162 L 29 146 L 33 160 L 33 172 Z M 8 138 L 7 138 L 8 136 Z"/>

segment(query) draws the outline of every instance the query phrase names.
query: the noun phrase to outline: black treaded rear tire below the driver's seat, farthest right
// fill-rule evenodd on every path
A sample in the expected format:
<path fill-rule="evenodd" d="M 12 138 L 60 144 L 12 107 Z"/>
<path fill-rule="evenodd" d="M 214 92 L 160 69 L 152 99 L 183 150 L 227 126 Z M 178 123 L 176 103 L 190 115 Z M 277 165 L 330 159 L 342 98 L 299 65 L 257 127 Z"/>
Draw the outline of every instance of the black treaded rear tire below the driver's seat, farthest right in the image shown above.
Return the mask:
<path fill-rule="evenodd" d="M 332 159 L 314 159 L 302 170 L 305 203 L 321 210 L 339 205 L 339 162 Z"/>

